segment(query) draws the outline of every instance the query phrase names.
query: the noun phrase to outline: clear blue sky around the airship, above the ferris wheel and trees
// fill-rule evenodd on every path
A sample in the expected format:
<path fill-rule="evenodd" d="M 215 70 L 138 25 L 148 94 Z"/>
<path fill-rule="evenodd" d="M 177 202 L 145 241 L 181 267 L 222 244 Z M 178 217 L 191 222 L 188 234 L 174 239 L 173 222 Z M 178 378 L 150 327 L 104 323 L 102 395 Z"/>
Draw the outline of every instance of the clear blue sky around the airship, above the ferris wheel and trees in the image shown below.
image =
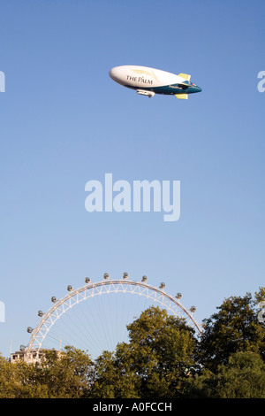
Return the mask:
<path fill-rule="evenodd" d="M 195 304 L 264 286 L 264 2 L 0 1 L 0 351 L 27 344 L 68 284 L 143 274 Z M 116 65 L 190 73 L 149 99 Z M 181 182 L 181 215 L 85 210 L 85 185 Z"/>

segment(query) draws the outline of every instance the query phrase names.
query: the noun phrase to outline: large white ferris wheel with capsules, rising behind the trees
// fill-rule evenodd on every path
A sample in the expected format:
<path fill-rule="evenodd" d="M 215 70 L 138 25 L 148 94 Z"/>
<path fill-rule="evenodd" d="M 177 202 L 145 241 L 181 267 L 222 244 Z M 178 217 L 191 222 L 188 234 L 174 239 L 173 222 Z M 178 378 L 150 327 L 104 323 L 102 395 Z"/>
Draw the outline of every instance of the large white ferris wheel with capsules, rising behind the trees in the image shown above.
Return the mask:
<path fill-rule="evenodd" d="M 41 320 L 36 327 L 27 327 L 31 339 L 27 347 L 22 345 L 20 350 L 28 353 L 44 349 L 60 351 L 62 346 L 72 345 L 96 357 L 104 350 L 113 351 L 117 343 L 125 341 L 126 325 L 148 306 L 155 304 L 185 320 L 195 334 L 201 334 L 201 326 L 193 318 L 195 306 L 186 309 L 180 303 L 181 293 L 172 297 L 165 292 L 165 283 L 154 287 L 147 281 L 147 276 L 143 276 L 141 281 L 129 280 L 128 273 L 124 273 L 122 279 L 111 280 L 105 273 L 103 280 L 95 283 L 86 278 L 85 285 L 79 289 L 69 285 L 66 296 L 59 300 L 51 297 L 53 305 L 48 312 L 38 312 Z M 135 298 L 138 302 L 133 303 Z M 122 323 L 117 316 L 123 319 Z M 115 336 L 110 335 L 110 331 Z"/>

